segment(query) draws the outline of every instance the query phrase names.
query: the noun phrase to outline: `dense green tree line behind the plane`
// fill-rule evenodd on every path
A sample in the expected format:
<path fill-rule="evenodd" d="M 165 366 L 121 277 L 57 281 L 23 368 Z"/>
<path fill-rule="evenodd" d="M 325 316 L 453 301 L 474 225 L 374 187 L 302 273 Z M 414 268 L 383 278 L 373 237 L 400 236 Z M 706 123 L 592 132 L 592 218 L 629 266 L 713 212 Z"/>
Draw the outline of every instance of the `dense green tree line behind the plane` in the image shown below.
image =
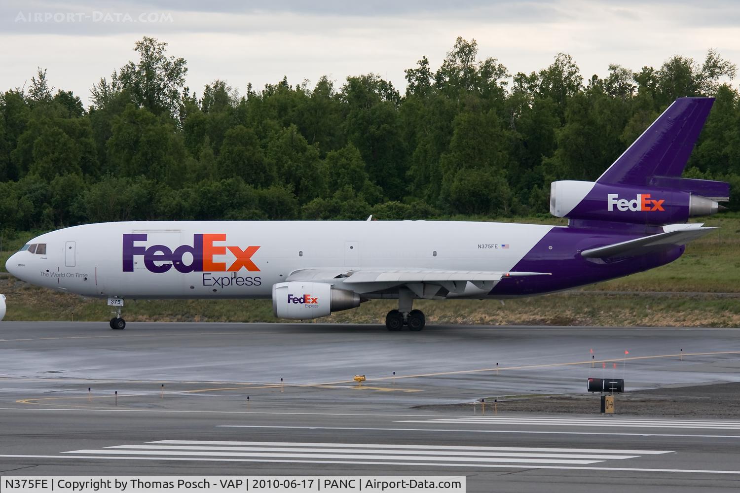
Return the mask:
<path fill-rule="evenodd" d="M 286 78 L 200 95 L 187 64 L 144 37 L 85 107 L 38 69 L 0 95 L 4 231 L 115 220 L 360 220 L 545 214 L 554 180 L 594 180 L 674 99 L 716 102 L 685 173 L 733 184 L 740 210 L 736 65 L 709 50 L 582 77 L 559 53 L 512 75 L 457 38 L 403 94 L 367 74 Z"/>

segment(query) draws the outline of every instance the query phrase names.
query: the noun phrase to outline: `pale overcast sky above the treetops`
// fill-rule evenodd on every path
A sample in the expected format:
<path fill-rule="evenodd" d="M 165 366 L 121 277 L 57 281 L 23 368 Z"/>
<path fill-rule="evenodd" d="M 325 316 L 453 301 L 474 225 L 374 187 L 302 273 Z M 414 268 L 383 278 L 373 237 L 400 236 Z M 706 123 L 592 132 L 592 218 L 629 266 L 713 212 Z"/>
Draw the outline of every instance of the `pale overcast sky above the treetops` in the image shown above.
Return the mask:
<path fill-rule="evenodd" d="M 4 0 L 0 4 L 0 89 L 28 85 L 36 67 L 88 104 L 90 87 L 129 60 L 150 35 L 187 61 L 187 83 L 225 79 L 244 92 L 288 76 L 321 75 L 341 86 L 374 72 L 403 93 L 403 69 L 426 55 L 439 67 L 457 36 L 476 39 L 479 58 L 509 72 L 573 55 L 584 78 L 608 64 L 639 70 L 671 55 L 702 61 L 707 49 L 740 64 L 740 2 L 589 1 L 108 1 Z M 733 81 L 733 86 L 737 86 Z"/>

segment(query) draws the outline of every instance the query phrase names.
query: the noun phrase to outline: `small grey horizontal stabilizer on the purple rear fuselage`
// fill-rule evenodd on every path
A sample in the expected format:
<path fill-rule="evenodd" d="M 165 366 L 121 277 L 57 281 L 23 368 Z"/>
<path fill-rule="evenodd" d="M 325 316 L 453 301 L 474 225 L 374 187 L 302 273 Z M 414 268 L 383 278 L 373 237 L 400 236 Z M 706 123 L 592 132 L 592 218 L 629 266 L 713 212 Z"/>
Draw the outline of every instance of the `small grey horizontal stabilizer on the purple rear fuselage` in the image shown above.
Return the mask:
<path fill-rule="evenodd" d="M 590 248 L 581 252 L 587 259 L 610 259 L 649 254 L 654 251 L 667 250 L 679 245 L 685 245 L 692 239 L 703 237 L 716 228 L 703 228 L 702 224 L 665 226 L 663 233 L 649 237 L 630 239 L 626 242 L 614 243 L 598 248 Z"/>

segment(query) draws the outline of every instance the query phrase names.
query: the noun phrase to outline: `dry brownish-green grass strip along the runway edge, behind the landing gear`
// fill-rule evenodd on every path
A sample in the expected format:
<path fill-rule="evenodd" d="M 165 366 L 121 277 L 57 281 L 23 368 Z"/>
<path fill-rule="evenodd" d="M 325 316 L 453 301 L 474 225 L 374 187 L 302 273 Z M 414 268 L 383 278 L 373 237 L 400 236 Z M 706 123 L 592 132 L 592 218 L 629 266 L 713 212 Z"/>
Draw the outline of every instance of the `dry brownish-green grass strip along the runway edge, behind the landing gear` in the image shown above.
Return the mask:
<path fill-rule="evenodd" d="M 0 292 L 8 296 L 6 320 L 107 321 L 111 317 L 104 300 L 30 286 L 7 274 L 0 277 Z M 376 300 L 304 323 L 382 324 L 388 310 L 396 306 L 391 300 Z M 717 298 L 710 293 L 699 297 L 559 293 L 507 300 L 503 305 L 496 300 L 421 300 L 414 307 L 424 311 L 429 324 L 740 326 L 740 297 Z M 127 300 L 124 313 L 129 322 L 277 321 L 269 300 Z"/>

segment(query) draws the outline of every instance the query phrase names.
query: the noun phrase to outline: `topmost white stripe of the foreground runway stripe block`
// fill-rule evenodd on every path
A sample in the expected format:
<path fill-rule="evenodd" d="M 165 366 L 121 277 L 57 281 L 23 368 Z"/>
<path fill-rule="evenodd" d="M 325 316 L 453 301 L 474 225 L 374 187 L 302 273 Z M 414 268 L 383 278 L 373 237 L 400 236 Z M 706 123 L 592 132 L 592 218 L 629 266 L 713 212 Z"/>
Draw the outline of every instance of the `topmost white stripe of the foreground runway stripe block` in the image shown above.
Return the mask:
<path fill-rule="evenodd" d="M 416 450 L 470 450 L 492 452 L 574 452 L 595 454 L 625 454 L 625 455 L 660 455 L 669 454 L 673 450 L 623 450 L 623 449 L 563 449 L 552 447 L 511 447 L 511 446 L 467 446 L 467 445 L 400 445 L 386 443 L 312 443 L 312 442 L 253 442 L 253 441 L 218 441 L 218 440 L 158 440 L 147 443 L 166 443 L 170 445 L 226 445 L 226 446 L 312 446 L 312 447 L 343 447 L 365 449 L 416 449 Z M 452 452 L 450 452 L 452 453 Z"/>

